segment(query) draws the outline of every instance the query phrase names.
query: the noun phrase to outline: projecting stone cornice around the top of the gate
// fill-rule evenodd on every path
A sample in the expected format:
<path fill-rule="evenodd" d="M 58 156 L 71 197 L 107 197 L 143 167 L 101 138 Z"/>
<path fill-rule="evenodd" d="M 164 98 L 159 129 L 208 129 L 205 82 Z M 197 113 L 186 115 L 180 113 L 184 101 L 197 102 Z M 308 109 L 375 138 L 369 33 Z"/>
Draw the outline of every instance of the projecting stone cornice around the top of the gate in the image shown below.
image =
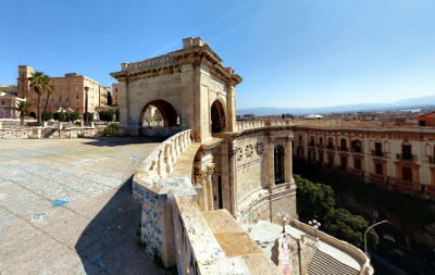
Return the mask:
<path fill-rule="evenodd" d="M 210 68 L 211 74 L 234 86 L 243 80 L 239 75 L 234 73 L 232 67 L 222 65 L 221 58 L 208 45 L 192 46 L 140 62 L 122 63 L 122 71 L 110 75 L 117 80 L 123 80 L 126 77 L 133 79 L 150 78 L 179 73 L 182 66 L 186 64 L 195 67 L 204 64 Z"/>

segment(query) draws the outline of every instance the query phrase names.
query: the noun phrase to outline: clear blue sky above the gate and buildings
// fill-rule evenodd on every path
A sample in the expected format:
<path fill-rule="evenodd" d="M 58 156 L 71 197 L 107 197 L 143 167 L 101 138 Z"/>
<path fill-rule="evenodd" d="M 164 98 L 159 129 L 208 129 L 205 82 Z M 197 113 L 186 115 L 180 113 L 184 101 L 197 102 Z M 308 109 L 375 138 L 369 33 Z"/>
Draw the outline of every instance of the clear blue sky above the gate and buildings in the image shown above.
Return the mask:
<path fill-rule="evenodd" d="M 17 65 L 109 86 L 121 62 L 201 36 L 244 78 L 237 107 L 435 96 L 434 0 L 1 0 L 0 84 Z"/>

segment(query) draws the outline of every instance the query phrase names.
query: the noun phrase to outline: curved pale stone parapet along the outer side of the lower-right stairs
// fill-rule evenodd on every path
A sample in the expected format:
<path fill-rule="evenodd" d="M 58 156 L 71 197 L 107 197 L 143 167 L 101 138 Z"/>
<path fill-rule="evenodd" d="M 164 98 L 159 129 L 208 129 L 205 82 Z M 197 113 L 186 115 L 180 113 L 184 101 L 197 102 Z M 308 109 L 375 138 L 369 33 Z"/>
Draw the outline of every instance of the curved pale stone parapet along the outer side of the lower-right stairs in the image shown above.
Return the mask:
<path fill-rule="evenodd" d="M 355 247 L 346 241 L 339 240 L 331 235 L 327 235 L 319 229 L 315 232 L 315 229 L 312 226 L 301 223 L 297 220 L 293 220 L 290 225 L 301 232 L 307 233 L 308 235 L 318 236 L 321 241 L 323 241 L 332 247 L 335 247 L 338 250 L 352 257 L 361 265 L 360 275 L 373 274 L 373 267 L 370 264 L 370 259 L 365 255 L 364 252 L 362 252 L 357 247 Z"/>

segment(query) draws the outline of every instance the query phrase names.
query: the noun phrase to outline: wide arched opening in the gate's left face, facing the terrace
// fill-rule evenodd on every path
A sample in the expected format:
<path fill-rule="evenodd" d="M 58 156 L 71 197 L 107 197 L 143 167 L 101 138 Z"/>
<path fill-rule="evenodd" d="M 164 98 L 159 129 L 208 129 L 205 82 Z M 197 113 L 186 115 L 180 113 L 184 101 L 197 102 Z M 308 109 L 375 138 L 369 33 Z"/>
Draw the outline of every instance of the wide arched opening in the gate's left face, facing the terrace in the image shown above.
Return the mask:
<path fill-rule="evenodd" d="M 171 136 L 179 130 L 179 115 L 175 108 L 164 100 L 147 103 L 139 116 L 140 135 Z"/>

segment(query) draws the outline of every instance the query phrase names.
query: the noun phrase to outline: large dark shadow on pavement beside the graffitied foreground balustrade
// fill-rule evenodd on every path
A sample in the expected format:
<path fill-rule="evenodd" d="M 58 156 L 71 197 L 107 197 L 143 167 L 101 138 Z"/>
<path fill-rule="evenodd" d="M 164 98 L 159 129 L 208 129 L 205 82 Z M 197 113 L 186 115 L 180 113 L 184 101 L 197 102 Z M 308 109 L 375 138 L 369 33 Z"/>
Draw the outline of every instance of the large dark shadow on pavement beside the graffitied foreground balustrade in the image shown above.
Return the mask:
<path fill-rule="evenodd" d="M 75 245 L 86 274 L 170 274 L 137 245 L 141 204 L 132 178 L 87 225 Z"/>

